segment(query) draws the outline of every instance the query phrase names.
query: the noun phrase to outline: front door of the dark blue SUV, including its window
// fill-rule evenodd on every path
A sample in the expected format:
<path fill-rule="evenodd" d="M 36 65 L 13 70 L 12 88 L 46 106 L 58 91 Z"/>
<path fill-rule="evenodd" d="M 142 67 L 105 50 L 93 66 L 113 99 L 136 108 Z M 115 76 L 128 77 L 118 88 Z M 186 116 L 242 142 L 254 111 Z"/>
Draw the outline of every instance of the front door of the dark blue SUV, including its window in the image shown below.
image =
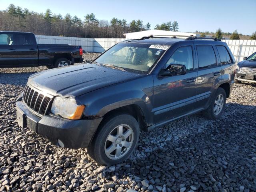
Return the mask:
<path fill-rule="evenodd" d="M 176 48 L 164 68 L 170 64 L 186 66 L 186 74 L 154 77 L 154 124 L 159 126 L 194 110 L 196 95 L 193 43 Z"/>

